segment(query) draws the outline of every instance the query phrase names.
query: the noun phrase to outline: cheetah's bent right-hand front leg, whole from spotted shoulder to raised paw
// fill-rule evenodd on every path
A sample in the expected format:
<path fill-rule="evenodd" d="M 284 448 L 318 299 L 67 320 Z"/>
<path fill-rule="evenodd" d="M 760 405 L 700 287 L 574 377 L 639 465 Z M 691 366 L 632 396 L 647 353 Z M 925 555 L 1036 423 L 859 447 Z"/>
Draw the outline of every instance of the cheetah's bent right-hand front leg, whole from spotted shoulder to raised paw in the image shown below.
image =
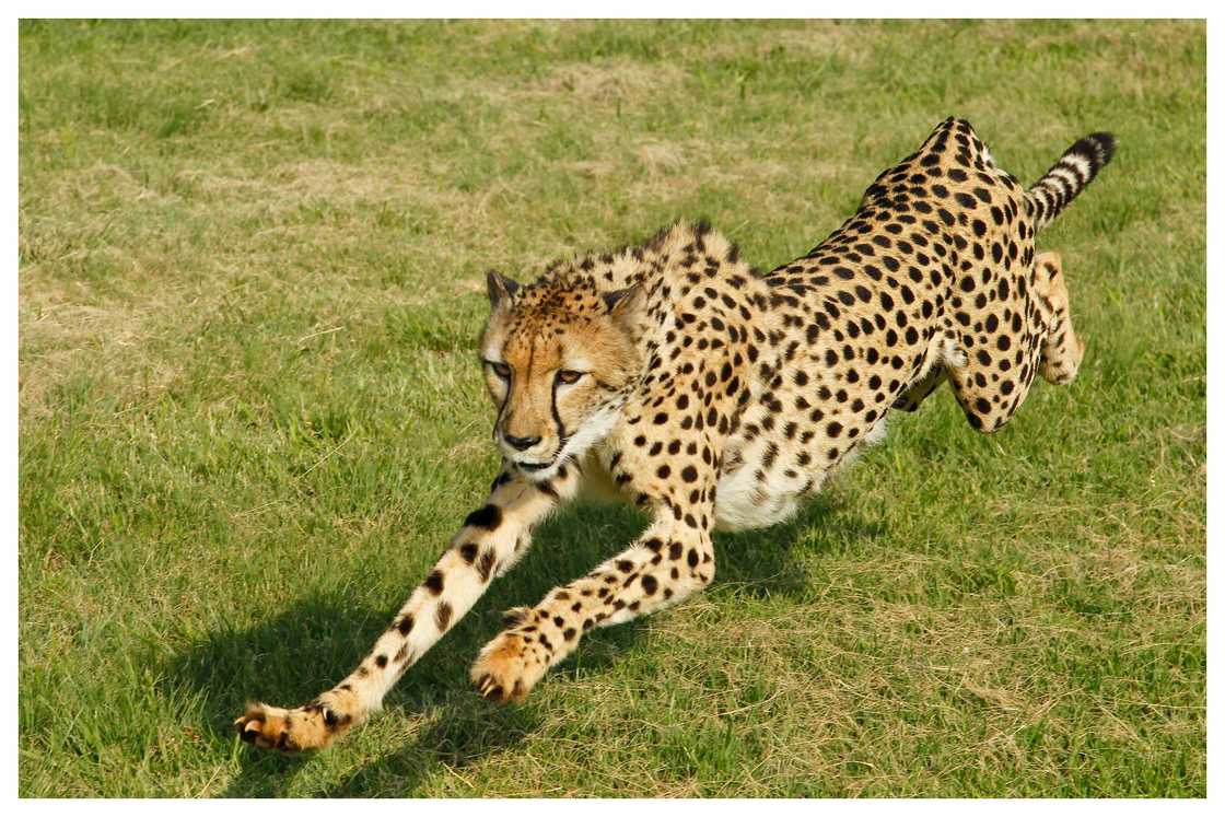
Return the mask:
<path fill-rule="evenodd" d="M 550 666 L 575 652 L 587 631 L 660 610 L 714 578 L 710 532 L 723 457 L 714 429 L 734 404 L 730 390 L 714 386 L 719 376 L 726 381 L 741 374 L 730 365 L 731 353 L 724 355 L 729 365 L 718 369 L 720 375 L 712 367 L 709 376 L 676 390 L 680 394 L 657 386 L 627 402 L 601 463 L 624 495 L 650 512 L 652 523 L 628 550 L 550 590 L 534 608 L 511 611 L 507 628 L 485 644 L 472 668 L 484 697 L 523 698 Z M 697 372 L 706 366 L 698 359 Z M 665 403 L 675 414 L 662 410 Z"/>

